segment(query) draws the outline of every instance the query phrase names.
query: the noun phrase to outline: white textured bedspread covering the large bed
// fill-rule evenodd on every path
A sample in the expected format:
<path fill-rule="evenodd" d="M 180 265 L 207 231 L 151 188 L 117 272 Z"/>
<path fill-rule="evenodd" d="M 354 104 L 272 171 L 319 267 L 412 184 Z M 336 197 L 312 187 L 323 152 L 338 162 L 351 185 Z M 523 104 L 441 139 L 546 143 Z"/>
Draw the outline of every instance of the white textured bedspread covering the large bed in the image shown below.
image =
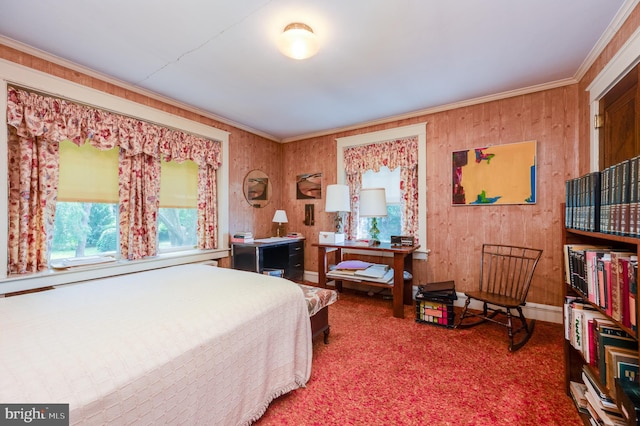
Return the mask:
<path fill-rule="evenodd" d="M 71 424 L 247 424 L 311 373 L 290 281 L 186 265 L 0 298 L 0 402 Z"/>

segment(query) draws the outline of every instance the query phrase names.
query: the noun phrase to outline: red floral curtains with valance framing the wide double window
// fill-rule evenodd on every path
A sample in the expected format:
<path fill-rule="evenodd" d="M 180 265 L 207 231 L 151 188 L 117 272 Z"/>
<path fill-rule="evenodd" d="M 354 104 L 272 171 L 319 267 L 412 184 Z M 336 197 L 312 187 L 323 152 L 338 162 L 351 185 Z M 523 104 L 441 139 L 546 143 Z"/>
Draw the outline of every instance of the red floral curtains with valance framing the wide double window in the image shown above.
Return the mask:
<path fill-rule="evenodd" d="M 11 129 L 9 138 L 13 162 L 9 179 L 11 273 L 35 272 L 47 267 L 58 182 L 58 144 L 66 139 L 78 146 L 90 143 L 98 149 L 116 146 L 120 149 L 123 257 L 139 259 L 156 254 L 161 155 L 169 160 L 189 159 L 198 164 L 199 175 L 206 176 L 198 181 L 201 200 L 198 229 L 216 229 L 217 224 L 212 225 L 210 221 L 215 220 L 215 212 L 211 211 L 215 211 L 217 205 L 215 171 L 221 165 L 219 142 L 13 87 L 8 88 L 7 96 L 7 123 L 15 129 Z M 209 185 L 214 185 L 213 189 Z M 27 210 L 29 203 L 31 207 Z M 41 235 L 35 235 L 36 232 Z M 217 247 L 217 232 L 198 235 L 203 238 L 198 241 L 199 247 Z"/>

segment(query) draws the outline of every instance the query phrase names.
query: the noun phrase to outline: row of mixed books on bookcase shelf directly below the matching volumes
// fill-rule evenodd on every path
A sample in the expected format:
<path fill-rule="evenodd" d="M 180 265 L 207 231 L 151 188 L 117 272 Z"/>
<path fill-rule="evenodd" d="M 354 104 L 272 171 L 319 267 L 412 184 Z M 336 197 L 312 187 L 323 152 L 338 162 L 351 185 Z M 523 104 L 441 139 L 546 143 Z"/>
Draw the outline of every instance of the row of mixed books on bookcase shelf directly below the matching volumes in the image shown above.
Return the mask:
<path fill-rule="evenodd" d="M 565 281 L 584 299 L 637 332 L 638 256 L 607 246 L 564 246 Z"/>

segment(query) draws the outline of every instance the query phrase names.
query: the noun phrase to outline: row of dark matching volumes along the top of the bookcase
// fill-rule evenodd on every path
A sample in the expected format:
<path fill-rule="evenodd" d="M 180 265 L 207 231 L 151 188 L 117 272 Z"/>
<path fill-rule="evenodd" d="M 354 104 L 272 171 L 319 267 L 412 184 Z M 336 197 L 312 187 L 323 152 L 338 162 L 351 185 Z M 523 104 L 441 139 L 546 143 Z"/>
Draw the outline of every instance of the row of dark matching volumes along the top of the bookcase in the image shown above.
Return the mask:
<path fill-rule="evenodd" d="M 640 156 L 565 182 L 565 227 L 640 236 Z"/>

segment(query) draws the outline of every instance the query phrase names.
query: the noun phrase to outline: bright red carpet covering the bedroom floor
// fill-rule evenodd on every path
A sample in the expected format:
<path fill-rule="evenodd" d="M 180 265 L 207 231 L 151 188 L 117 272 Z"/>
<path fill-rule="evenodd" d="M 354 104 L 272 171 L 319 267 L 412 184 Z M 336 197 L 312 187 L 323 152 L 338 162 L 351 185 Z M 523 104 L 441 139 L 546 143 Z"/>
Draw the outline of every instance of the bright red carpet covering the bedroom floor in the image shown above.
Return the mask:
<path fill-rule="evenodd" d="M 307 387 L 273 401 L 266 425 L 582 425 L 564 393 L 562 326 L 538 321 L 515 353 L 506 329 L 393 318 L 391 301 L 345 290 Z"/>

